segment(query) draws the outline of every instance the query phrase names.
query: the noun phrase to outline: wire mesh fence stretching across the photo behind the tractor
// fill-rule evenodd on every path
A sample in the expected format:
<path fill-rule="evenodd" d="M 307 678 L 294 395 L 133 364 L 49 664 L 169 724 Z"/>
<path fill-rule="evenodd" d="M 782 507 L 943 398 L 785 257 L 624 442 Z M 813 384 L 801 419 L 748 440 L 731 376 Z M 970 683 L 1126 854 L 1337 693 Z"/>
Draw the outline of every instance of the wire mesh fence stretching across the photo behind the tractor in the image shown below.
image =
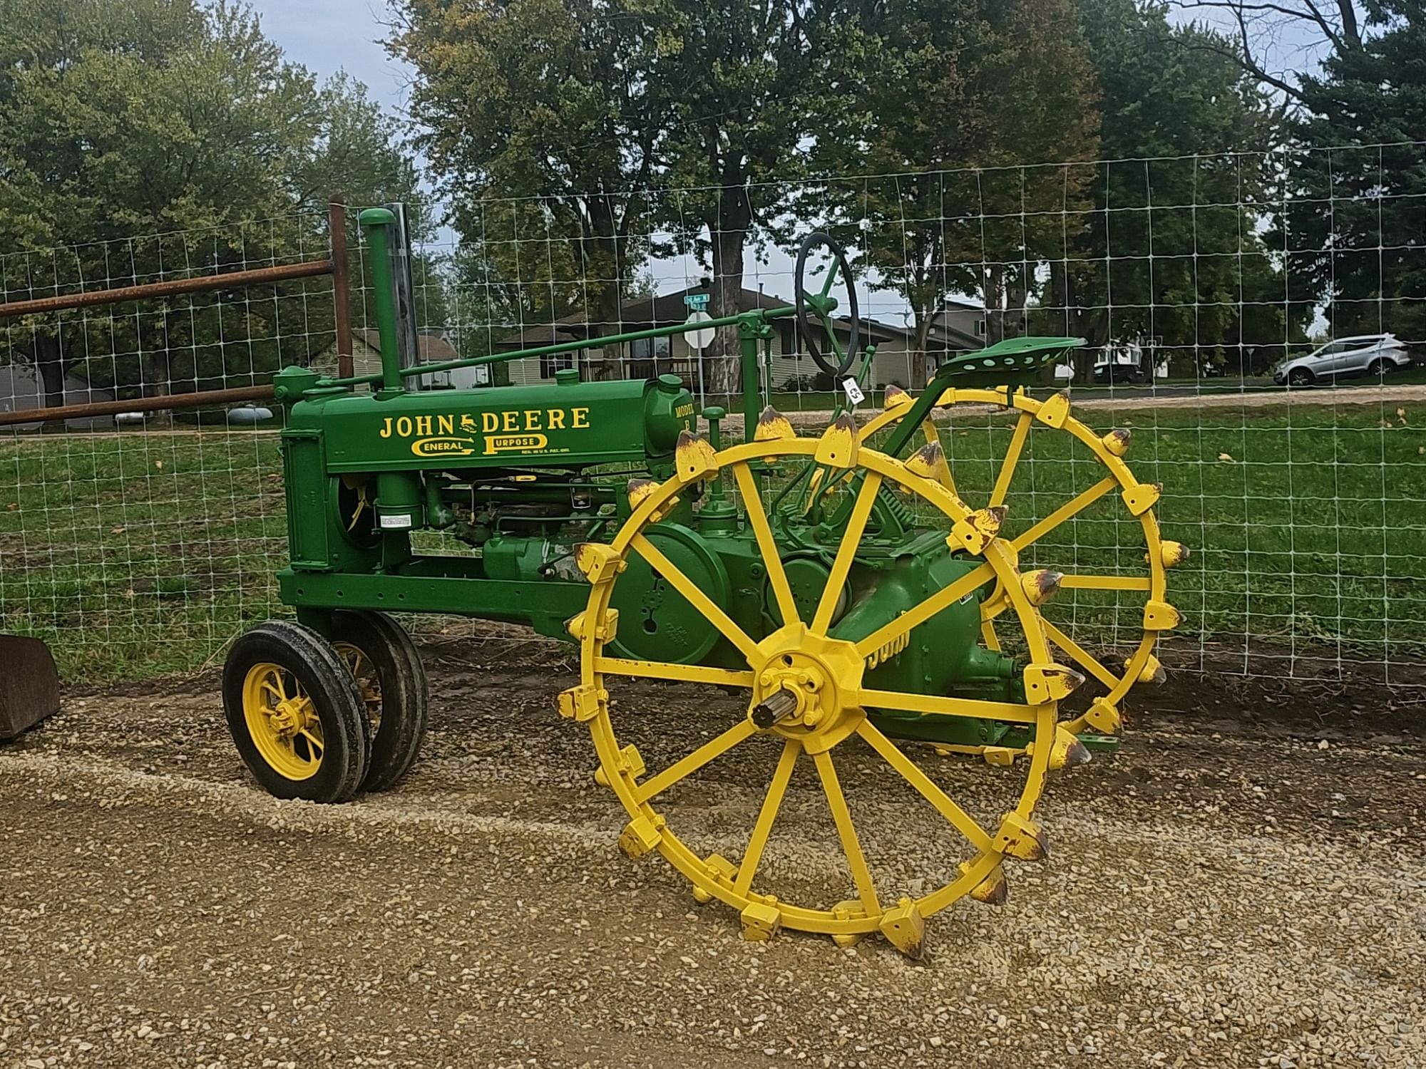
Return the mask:
<path fill-rule="evenodd" d="M 689 336 L 599 339 L 784 306 L 797 242 L 824 229 L 848 248 L 856 275 L 851 292 L 833 288 L 833 334 L 846 348 L 854 296 L 861 344 L 876 346 L 853 365 L 863 412 L 887 388 L 915 393 L 947 359 L 1004 338 L 1085 339 L 1030 392 L 1070 389 L 1085 423 L 1132 429 L 1127 462 L 1144 483 L 1162 483 L 1164 536 L 1194 550 L 1169 577 L 1185 623 L 1166 664 L 1426 686 L 1426 600 L 1415 592 L 1426 557 L 1426 187 L 1399 165 L 1400 148 L 461 204 L 455 229 L 414 248 L 421 359 L 588 345 L 424 385 L 536 386 L 565 368 L 585 379 L 674 375 L 700 403 L 740 412 L 730 332 L 693 339 L 702 348 Z M 710 227 L 737 217 L 726 211 L 737 197 L 756 222 Z M 379 339 L 365 249 L 352 238 L 362 375 L 379 371 Z M 282 262 L 325 242 L 319 220 L 294 218 L 16 254 L 0 259 L 0 298 Z M 819 285 L 826 269 L 814 257 Z M 44 359 L 36 352 L 50 334 L 67 361 L 83 355 L 66 366 L 81 379 L 71 388 L 91 393 L 262 381 L 289 362 L 335 372 L 327 279 L 175 304 L 86 312 L 58 331 L 3 325 L 0 381 Z M 776 321 L 753 388 L 759 405 L 810 432 L 844 395 L 806 342 L 793 318 Z M 935 419 L 958 490 L 987 499 L 1015 413 L 947 405 Z M 51 640 L 80 673 L 141 674 L 201 664 L 279 611 L 282 497 L 277 439 L 264 429 L 279 422 L 277 412 L 251 429 L 150 422 L 0 439 L 3 629 Z M 736 416 L 724 430 L 740 433 Z M 1008 486 L 1008 530 L 1035 527 L 1101 476 L 1082 443 L 1035 425 Z M 1107 495 L 1044 532 L 1022 566 L 1127 576 L 1144 552 L 1138 522 Z M 1142 601 L 1134 590 L 1072 587 L 1048 616 L 1124 651 Z"/>

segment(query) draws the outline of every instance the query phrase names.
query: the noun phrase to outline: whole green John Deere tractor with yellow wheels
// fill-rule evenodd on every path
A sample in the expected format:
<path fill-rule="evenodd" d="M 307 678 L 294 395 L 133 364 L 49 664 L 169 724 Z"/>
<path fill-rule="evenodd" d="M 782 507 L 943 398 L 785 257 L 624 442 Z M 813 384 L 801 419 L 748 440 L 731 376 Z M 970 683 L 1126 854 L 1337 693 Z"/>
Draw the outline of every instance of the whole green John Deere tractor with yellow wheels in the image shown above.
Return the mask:
<path fill-rule="evenodd" d="M 589 730 L 596 780 L 627 814 L 623 852 L 660 854 L 700 901 L 732 905 L 747 938 L 800 928 L 850 942 L 880 932 L 914 955 L 928 915 L 967 895 L 1004 901 L 1007 859 L 1045 855 L 1032 811 L 1047 775 L 1112 745 L 1125 694 L 1161 676 L 1155 640 L 1179 620 L 1165 574 L 1186 550 L 1159 537 L 1159 489 L 1125 465 L 1129 433 L 1094 432 L 1065 393 L 1040 401 L 1022 385 L 1082 341 L 1004 341 L 947 361 L 917 398 L 887 389 L 881 410 L 861 420 L 848 401 L 799 433 L 759 396 L 760 349 L 776 321 L 799 322 L 813 359 L 847 383 L 848 398 L 874 358 L 860 345 L 846 257 L 823 234 L 801 248 L 787 308 L 401 366 L 392 217 L 369 210 L 362 225 L 381 375 L 324 379 L 288 368 L 277 376 L 291 406 L 282 432 L 291 563 L 281 590 L 297 620 L 241 637 L 224 671 L 228 725 L 258 781 L 279 797 L 328 802 L 391 787 L 416 758 L 426 698 L 415 647 L 388 613 L 513 621 L 578 644 L 579 678 L 558 708 Z M 809 288 L 819 247 L 831 267 Z M 834 316 L 837 279 L 844 318 Z M 673 376 L 582 382 L 566 369 L 549 385 L 408 388 L 453 368 L 593 345 L 607 352 L 710 326 L 742 342 L 736 442 L 723 440 L 726 413 L 700 412 Z M 974 495 L 960 492 L 941 442 L 947 420 L 954 428 L 964 412 L 1004 413 L 994 479 Z M 1015 476 L 1042 436 L 1072 439 L 1075 460 L 1035 485 L 1035 502 L 1048 495 L 1054 506 L 1027 507 L 1014 523 Z M 1091 507 L 1109 512 L 1122 567 L 1027 563 L 1062 546 L 1062 525 Z M 1068 617 L 1052 619 L 1047 603 L 1067 592 L 1111 599 L 1118 620 L 1131 613 L 1117 659 L 1077 640 Z M 647 718 L 649 680 L 717 696 L 689 706 L 707 713 L 690 713 L 656 758 L 627 741 Z M 732 714 L 720 720 L 717 710 Z M 686 808 L 670 797 L 740 748 L 766 751 L 770 767 L 756 818 L 732 835 L 740 847 L 716 848 L 729 835 L 680 835 Z M 1014 784 L 991 817 L 973 815 L 943 787 L 941 771 L 960 754 L 1000 765 L 987 773 L 997 785 Z M 961 842 L 954 864 L 913 877 L 907 858 L 888 871 L 868 857 L 843 787 L 857 761 L 881 765 L 934 807 Z M 803 763 L 844 855 L 844 895 L 803 894 L 800 881 L 789 892 L 761 864 Z"/>

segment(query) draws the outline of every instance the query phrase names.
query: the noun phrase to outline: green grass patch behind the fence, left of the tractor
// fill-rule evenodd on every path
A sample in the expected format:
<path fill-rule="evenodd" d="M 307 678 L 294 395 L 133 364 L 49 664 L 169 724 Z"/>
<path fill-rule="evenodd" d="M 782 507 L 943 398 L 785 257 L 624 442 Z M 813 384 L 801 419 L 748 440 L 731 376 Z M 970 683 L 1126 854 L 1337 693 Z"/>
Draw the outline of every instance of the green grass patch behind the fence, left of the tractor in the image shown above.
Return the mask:
<path fill-rule="evenodd" d="M 76 683 L 202 666 L 279 609 L 279 473 L 250 432 L 0 443 L 0 631 L 48 641 Z"/>

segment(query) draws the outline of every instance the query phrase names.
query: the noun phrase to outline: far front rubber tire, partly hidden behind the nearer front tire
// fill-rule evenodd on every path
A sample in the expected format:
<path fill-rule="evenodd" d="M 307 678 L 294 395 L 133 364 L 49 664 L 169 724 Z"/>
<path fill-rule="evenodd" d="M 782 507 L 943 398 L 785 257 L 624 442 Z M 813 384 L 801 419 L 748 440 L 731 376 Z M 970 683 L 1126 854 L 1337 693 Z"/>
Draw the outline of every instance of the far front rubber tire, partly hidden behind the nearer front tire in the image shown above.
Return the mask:
<path fill-rule="evenodd" d="M 355 647 L 375 668 L 375 696 L 364 690 L 368 720 L 376 714 L 371 738 L 371 767 L 362 790 L 385 791 L 411 771 L 426 737 L 426 671 L 416 644 L 406 630 L 385 613 L 339 610 L 332 613 L 332 644 L 345 659 L 344 647 Z M 362 673 L 366 676 L 368 673 Z M 366 697 L 374 700 L 368 704 Z"/>

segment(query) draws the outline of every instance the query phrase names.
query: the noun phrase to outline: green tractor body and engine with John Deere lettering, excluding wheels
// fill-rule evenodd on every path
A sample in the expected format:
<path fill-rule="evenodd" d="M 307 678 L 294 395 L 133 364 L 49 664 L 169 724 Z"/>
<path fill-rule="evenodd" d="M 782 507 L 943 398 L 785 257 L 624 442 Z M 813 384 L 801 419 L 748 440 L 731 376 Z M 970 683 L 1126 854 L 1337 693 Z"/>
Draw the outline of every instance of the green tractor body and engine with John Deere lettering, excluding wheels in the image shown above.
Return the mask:
<path fill-rule="evenodd" d="M 281 583 L 299 614 L 308 614 L 302 606 L 309 599 L 361 600 L 361 590 L 375 584 L 391 587 L 376 594 L 391 609 L 469 613 L 569 639 L 566 624 L 588 593 L 576 546 L 607 537 L 627 520 L 630 473 L 636 486 L 667 477 L 680 435 L 694 425 L 693 398 L 672 375 L 579 382 L 576 371 L 565 369 L 550 386 L 394 398 L 327 395 L 294 382 L 295 373 L 284 378 L 305 398 L 292 406 L 282 435 L 292 559 Z M 716 426 L 723 412 L 706 415 Z M 767 472 L 771 482 L 790 476 Z M 779 540 L 793 547 L 787 582 L 810 619 L 831 577 L 841 527 L 823 502 L 814 512 L 789 503 L 771 522 Z M 747 634 L 760 639 L 783 626 L 753 532 L 722 480 L 680 500 L 647 537 Z M 442 542 L 471 549 L 452 553 Z M 870 634 L 973 567 L 947 547 L 944 532 L 917 529 L 907 506 L 883 492 L 829 633 Z M 495 586 L 473 586 L 472 579 Z M 441 594 L 443 589 L 459 597 Z M 471 603 L 476 592 L 485 597 Z M 978 644 L 987 593 L 965 594 L 914 636 L 873 651 L 868 683 L 1022 701 L 1014 660 Z M 740 663 L 706 614 L 642 557 L 629 563 L 613 607 L 622 624 L 612 650 L 622 657 Z M 898 735 L 948 744 L 994 745 L 1007 733 L 990 720 L 927 724 L 915 714 L 878 716 Z"/>

